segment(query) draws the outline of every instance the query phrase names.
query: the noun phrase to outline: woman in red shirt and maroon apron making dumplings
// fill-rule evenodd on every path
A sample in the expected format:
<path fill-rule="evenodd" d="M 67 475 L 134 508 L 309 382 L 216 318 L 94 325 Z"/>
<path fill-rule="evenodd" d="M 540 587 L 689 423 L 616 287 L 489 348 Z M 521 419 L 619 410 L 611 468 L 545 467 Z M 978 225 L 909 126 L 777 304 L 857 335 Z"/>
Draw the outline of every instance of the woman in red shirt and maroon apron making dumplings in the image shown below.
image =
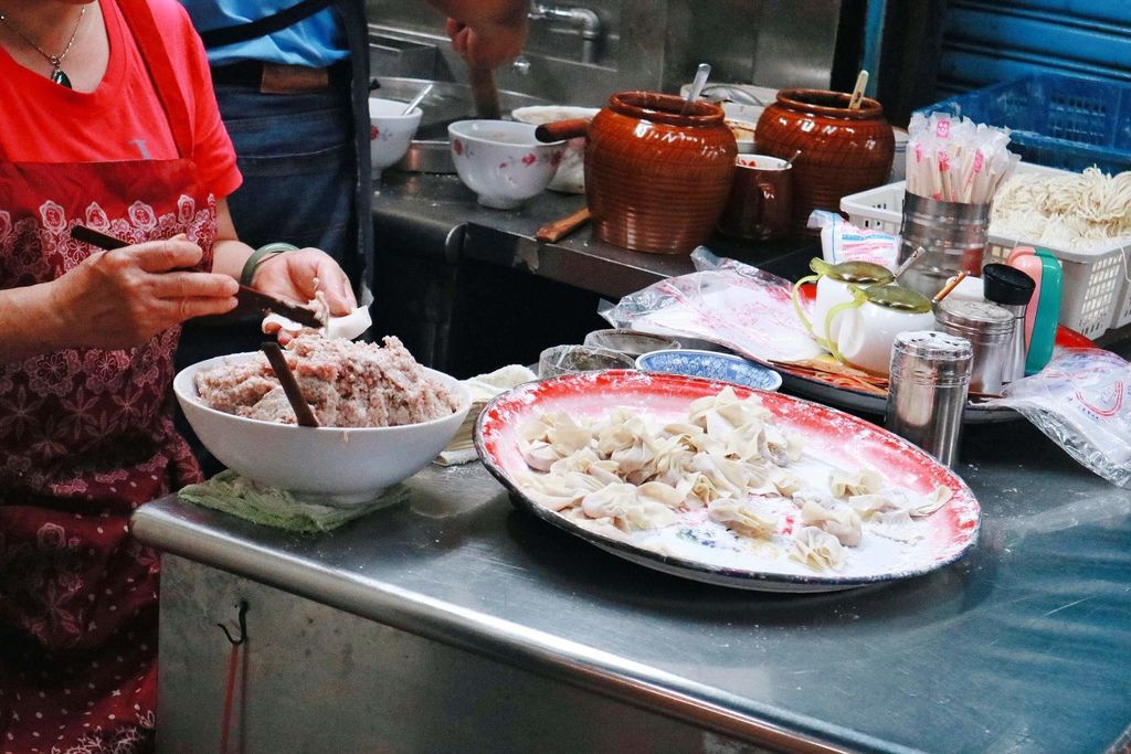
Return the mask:
<path fill-rule="evenodd" d="M 158 560 L 129 515 L 199 480 L 172 354 L 181 322 L 235 306 L 241 179 L 174 0 L 0 0 L 0 752 L 138 751 Z M 252 270 L 354 305 L 317 249 Z"/>

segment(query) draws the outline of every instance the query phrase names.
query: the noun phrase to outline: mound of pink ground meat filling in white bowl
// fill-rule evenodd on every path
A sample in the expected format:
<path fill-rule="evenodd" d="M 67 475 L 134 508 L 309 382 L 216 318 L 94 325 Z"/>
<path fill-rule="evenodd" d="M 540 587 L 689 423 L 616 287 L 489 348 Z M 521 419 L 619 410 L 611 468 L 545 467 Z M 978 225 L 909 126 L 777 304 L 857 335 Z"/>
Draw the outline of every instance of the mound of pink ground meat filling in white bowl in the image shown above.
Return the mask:
<path fill-rule="evenodd" d="M 456 410 L 451 393 L 429 379 L 396 337 L 385 338 L 382 348 L 302 335 L 283 353 L 322 426 L 398 426 Z M 283 385 L 262 354 L 198 372 L 196 383 L 200 399 L 217 410 L 295 424 Z"/>

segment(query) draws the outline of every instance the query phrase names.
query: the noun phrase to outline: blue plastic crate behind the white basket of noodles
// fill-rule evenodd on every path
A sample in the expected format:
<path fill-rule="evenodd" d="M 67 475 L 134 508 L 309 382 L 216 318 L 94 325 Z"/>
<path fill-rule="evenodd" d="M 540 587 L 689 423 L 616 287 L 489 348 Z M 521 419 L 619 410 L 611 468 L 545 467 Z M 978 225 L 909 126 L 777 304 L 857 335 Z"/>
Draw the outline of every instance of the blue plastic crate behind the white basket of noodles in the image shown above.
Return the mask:
<path fill-rule="evenodd" d="M 1010 129 L 1010 150 L 1029 163 L 1080 172 L 1131 170 L 1131 85 L 1034 73 L 921 107 Z"/>

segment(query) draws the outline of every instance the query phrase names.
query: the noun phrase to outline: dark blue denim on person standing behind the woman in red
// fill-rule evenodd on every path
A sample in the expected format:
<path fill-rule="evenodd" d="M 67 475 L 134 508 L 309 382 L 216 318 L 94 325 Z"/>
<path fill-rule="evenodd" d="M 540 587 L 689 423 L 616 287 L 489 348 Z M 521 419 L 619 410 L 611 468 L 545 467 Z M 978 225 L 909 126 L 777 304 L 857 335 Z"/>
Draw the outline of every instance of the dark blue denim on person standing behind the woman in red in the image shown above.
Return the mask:
<path fill-rule="evenodd" d="M 357 166 L 348 88 L 273 95 L 217 85 L 216 99 L 243 173 L 243 185 L 227 200 L 240 239 L 253 249 L 273 241 L 317 246 L 356 284 Z"/>

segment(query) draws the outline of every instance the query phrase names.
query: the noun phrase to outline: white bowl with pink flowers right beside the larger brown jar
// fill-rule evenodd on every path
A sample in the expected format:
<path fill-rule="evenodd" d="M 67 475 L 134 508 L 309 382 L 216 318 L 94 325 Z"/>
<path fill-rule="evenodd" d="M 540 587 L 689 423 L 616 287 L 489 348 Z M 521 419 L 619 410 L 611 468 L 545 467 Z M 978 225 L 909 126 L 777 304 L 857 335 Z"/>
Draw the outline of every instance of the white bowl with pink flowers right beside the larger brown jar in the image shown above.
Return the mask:
<path fill-rule="evenodd" d="M 484 207 L 515 209 L 550 184 L 564 141 L 542 144 L 536 127 L 513 121 L 456 121 L 448 127 L 459 180 Z"/>

